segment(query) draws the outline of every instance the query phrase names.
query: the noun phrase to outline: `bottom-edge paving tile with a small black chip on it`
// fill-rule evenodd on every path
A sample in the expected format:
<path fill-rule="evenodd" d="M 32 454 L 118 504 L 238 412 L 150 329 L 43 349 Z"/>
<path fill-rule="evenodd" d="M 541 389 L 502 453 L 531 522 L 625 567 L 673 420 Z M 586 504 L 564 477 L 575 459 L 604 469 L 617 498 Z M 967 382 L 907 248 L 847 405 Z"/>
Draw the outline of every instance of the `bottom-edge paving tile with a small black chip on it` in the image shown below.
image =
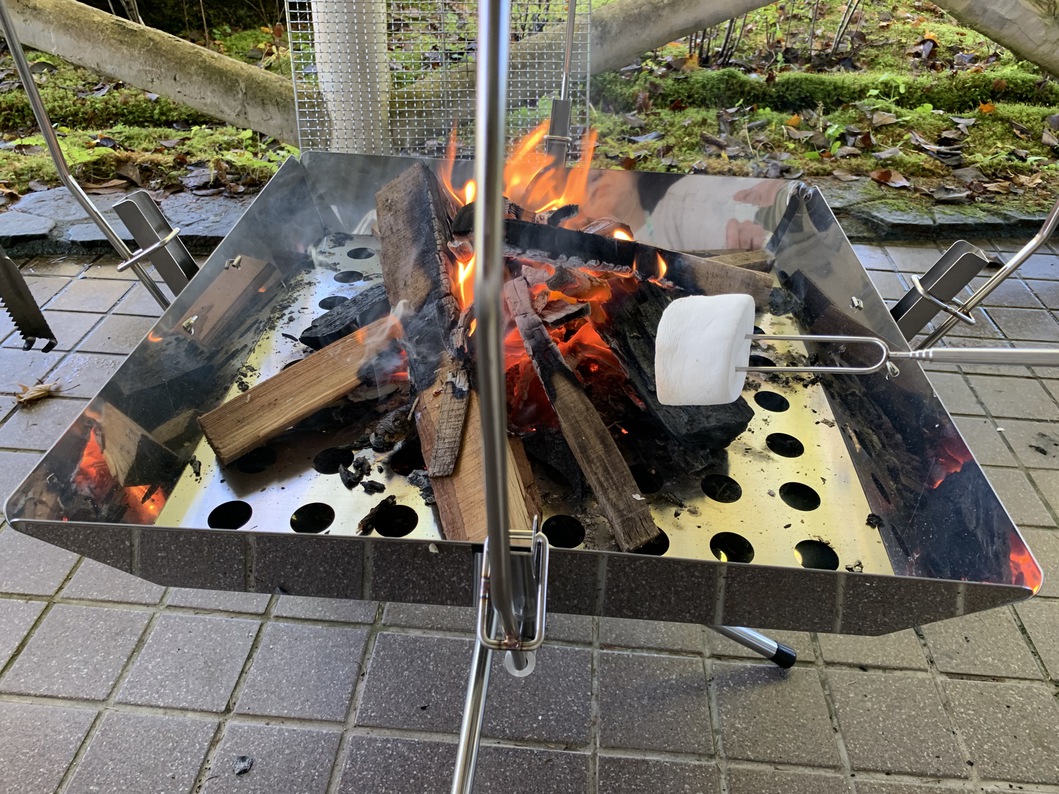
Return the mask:
<path fill-rule="evenodd" d="M 230 722 L 204 794 L 324 794 L 342 732 Z M 235 774 L 239 756 L 254 759 L 250 771 Z"/>

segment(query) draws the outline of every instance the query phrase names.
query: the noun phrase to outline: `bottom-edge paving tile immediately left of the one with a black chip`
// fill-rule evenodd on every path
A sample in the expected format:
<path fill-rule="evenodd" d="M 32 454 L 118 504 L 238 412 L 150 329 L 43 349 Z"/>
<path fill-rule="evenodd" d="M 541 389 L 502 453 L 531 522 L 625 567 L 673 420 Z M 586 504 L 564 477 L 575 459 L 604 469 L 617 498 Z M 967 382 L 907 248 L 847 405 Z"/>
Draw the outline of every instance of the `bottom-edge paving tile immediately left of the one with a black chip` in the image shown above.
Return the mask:
<path fill-rule="evenodd" d="M 69 794 L 183 794 L 195 784 L 212 720 L 110 711 L 77 764 Z"/>

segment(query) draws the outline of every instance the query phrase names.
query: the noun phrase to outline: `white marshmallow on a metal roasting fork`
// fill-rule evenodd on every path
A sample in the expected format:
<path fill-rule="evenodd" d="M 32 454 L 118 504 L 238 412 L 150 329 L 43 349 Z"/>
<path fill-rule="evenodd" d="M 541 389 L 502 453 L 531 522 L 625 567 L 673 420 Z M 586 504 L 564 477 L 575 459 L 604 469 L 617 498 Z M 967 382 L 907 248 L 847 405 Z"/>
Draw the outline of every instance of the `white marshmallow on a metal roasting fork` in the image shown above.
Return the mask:
<path fill-rule="evenodd" d="M 750 295 L 690 295 L 669 304 L 654 340 L 654 386 L 665 405 L 734 402 L 754 332 Z"/>

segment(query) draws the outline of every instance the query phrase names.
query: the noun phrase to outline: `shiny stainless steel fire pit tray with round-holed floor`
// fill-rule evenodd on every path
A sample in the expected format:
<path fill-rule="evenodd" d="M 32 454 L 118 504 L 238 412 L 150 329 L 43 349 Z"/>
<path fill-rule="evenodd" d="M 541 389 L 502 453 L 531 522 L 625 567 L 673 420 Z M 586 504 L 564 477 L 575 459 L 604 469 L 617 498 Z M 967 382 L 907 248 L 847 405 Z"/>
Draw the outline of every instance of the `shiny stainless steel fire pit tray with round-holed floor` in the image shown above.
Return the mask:
<path fill-rule="evenodd" d="M 381 497 L 347 490 L 321 464 L 355 428 L 288 434 L 221 467 L 196 421 L 304 356 L 297 336 L 343 284 L 373 281 L 375 195 L 412 163 L 288 161 L 11 498 L 11 524 L 162 584 L 470 604 L 475 545 L 443 539 L 396 463 L 370 473 Z M 453 181 L 469 176 L 456 163 Z M 677 251 L 767 243 L 777 286 L 761 330 L 904 346 L 825 201 L 803 185 L 600 172 L 581 209 Z M 756 353 L 836 360 L 824 347 Z M 878 634 L 1039 588 L 1039 566 L 917 364 L 897 377 L 751 376 L 744 397 L 754 419 L 716 465 L 664 472 L 647 494 L 668 548 L 618 554 L 600 533 L 590 547 L 555 549 L 552 611 Z M 561 489 L 541 490 L 544 516 L 561 513 L 562 495 L 549 500 Z M 358 535 L 388 495 L 401 512 Z M 383 525 L 407 537 L 381 537 Z"/>

